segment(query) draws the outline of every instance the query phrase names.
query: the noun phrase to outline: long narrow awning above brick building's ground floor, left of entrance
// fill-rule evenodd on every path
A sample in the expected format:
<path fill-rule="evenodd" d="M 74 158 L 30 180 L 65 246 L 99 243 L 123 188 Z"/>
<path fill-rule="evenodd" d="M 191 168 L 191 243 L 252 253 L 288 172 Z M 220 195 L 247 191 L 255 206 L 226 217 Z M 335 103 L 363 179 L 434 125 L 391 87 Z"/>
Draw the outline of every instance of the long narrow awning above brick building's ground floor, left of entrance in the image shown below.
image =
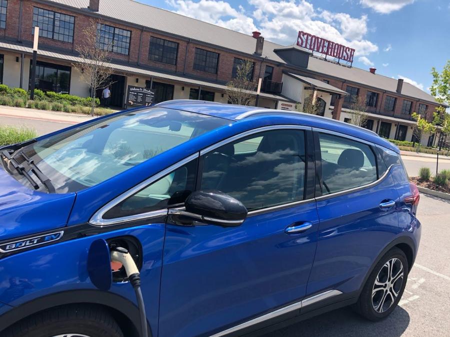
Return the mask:
<path fill-rule="evenodd" d="M 13 44 L 13 43 L 6 43 L 6 42 L 0 42 L 0 49 L 6 49 L 11 51 L 18 51 L 21 53 L 26 54 L 32 54 L 33 49 L 31 47 L 27 47 L 20 44 Z M 83 59 L 80 57 L 77 57 L 75 55 L 70 54 L 62 54 L 57 53 L 49 50 L 38 50 L 37 52 L 38 57 L 46 57 L 53 60 L 61 60 L 61 61 L 68 61 L 68 62 L 83 62 Z M 125 64 L 118 64 L 118 63 L 105 63 L 105 66 L 114 70 L 122 71 L 125 73 L 129 73 L 131 75 L 144 75 L 152 78 L 160 78 L 165 80 L 171 80 L 176 82 L 181 82 L 186 85 L 195 85 L 200 86 L 202 88 L 210 88 L 210 89 L 219 89 L 220 91 L 225 91 L 227 89 L 225 84 L 220 83 L 214 83 L 214 82 L 208 82 L 203 80 L 198 80 L 194 78 L 189 78 L 186 76 L 180 76 L 180 75 L 174 75 L 174 74 L 167 74 L 159 71 L 153 71 L 145 68 L 139 68 L 138 66 L 130 66 Z M 256 91 L 250 91 L 251 94 L 256 95 Z M 286 100 L 286 97 L 261 92 L 259 93 L 259 97 L 273 99 L 273 100 Z"/>

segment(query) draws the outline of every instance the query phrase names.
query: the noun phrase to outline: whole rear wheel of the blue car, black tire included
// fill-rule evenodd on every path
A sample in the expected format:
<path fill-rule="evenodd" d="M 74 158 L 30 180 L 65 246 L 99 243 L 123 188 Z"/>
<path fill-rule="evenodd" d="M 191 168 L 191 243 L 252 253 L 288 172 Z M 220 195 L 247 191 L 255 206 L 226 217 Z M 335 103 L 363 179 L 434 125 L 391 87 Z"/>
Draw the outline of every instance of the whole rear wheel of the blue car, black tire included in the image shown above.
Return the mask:
<path fill-rule="evenodd" d="M 365 282 L 354 306 L 356 312 L 370 321 L 379 321 L 389 316 L 403 295 L 408 271 L 403 251 L 396 247 L 389 250 Z"/>

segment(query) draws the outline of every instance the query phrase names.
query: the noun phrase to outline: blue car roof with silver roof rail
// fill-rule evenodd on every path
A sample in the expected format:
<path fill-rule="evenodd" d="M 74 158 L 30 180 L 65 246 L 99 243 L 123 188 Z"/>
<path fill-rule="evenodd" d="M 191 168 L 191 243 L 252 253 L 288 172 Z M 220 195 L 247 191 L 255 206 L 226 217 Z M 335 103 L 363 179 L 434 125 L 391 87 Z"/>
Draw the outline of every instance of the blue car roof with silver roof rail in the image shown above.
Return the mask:
<path fill-rule="evenodd" d="M 170 100 L 156 104 L 156 106 L 164 106 L 172 109 L 178 109 L 193 113 L 225 118 L 232 121 L 254 120 L 263 117 L 292 117 L 292 121 L 299 125 L 309 125 L 312 127 L 331 129 L 337 132 L 348 134 L 361 139 L 366 139 L 375 144 L 387 147 L 399 153 L 397 146 L 388 142 L 384 138 L 379 137 L 375 132 L 360 126 L 345 123 L 343 121 L 322 117 L 318 115 L 298 112 L 266 109 L 256 106 L 223 104 L 218 102 L 178 99 Z M 329 126 L 329 127 L 324 127 Z"/>

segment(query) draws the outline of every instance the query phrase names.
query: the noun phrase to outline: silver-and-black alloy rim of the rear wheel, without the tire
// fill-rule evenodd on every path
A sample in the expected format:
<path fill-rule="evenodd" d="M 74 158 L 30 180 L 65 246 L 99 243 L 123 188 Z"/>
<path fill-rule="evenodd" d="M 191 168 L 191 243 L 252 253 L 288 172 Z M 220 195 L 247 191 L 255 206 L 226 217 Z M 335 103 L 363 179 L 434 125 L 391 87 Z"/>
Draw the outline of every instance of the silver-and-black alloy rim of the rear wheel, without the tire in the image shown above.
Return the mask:
<path fill-rule="evenodd" d="M 397 258 L 388 260 L 378 272 L 372 288 L 372 307 L 377 313 L 388 310 L 400 293 L 404 280 L 404 268 Z"/>

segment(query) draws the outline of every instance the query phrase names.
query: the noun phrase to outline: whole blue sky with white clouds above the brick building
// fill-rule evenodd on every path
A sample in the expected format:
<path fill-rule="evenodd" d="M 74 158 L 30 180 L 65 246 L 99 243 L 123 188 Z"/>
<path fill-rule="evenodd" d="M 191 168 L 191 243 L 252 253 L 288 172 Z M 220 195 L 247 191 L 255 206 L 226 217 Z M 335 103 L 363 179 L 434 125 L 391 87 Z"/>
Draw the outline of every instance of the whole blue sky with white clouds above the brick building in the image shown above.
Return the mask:
<path fill-rule="evenodd" d="M 304 30 L 356 49 L 353 65 L 427 91 L 450 58 L 450 0 L 138 0 L 283 45 Z M 219 37 L 217 37 L 219 38 Z"/>

